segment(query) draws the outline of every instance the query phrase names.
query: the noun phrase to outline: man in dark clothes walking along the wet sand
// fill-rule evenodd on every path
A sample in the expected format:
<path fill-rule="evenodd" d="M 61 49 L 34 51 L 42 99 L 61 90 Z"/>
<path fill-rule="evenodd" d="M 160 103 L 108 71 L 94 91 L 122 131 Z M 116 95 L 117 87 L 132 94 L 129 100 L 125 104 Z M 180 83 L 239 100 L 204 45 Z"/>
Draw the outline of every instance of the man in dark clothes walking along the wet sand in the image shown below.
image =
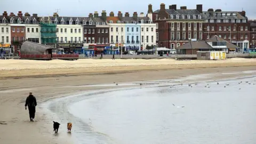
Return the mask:
<path fill-rule="evenodd" d="M 29 118 L 31 122 L 34 122 L 34 119 L 35 119 L 36 105 L 37 105 L 36 98 L 34 97 L 32 92 L 29 92 L 29 95 L 25 103 L 25 109 L 27 110 L 27 106 L 28 106 Z"/>

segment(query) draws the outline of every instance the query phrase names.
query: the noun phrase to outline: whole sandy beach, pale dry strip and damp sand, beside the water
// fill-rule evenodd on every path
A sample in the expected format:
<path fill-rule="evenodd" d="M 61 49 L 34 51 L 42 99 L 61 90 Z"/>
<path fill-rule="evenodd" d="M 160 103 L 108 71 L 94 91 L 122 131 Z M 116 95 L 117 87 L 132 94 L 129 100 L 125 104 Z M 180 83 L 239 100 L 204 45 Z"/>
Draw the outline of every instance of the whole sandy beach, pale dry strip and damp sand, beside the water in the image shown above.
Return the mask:
<path fill-rule="evenodd" d="M 256 70 L 256 59 L 228 59 L 218 61 L 172 59 L 161 60 L 92 60 L 34 61 L 0 60 L 0 143 L 73 143 L 72 135 L 53 132 L 55 119 L 40 108 L 41 103 L 94 89 L 111 87 L 69 87 L 87 84 L 125 83 L 172 79 L 187 75 L 233 73 Z M 213 79 L 250 76 L 221 75 Z M 191 79 L 188 81 L 197 81 Z M 121 87 L 121 86 L 120 86 Z M 116 88 L 116 87 L 115 87 Z M 36 121 L 29 122 L 25 100 L 33 92 L 38 101 Z M 61 125 L 66 129 L 66 124 Z"/>

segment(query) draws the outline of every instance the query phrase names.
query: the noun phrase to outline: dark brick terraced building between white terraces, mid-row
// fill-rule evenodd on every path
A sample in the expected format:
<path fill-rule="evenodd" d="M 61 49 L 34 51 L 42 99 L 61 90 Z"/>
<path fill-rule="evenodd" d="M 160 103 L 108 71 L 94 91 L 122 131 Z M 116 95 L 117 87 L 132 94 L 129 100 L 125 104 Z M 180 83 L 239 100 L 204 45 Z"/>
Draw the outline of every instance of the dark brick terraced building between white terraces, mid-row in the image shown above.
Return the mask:
<path fill-rule="evenodd" d="M 92 44 L 109 44 L 109 26 L 106 19 L 106 11 L 102 11 L 101 16 L 95 11 L 83 19 L 85 47 Z"/>

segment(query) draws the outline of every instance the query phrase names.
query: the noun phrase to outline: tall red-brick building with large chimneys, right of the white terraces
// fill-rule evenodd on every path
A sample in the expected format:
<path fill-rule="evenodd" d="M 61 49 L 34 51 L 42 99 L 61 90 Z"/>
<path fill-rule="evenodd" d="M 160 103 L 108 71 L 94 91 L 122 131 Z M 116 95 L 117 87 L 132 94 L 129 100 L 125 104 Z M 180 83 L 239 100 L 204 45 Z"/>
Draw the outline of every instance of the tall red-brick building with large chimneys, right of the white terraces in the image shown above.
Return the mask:
<path fill-rule="evenodd" d="M 156 35 L 158 47 L 175 49 L 191 39 L 203 39 L 202 17 L 203 5 L 196 5 L 196 9 L 187 9 L 177 5 L 170 5 L 165 9 L 165 4 L 160 5 L 160 10 L 152 11 L 152 5 L 148 6 L 148 12 L 153 12 L 153 21 L 157 25 Z"/>

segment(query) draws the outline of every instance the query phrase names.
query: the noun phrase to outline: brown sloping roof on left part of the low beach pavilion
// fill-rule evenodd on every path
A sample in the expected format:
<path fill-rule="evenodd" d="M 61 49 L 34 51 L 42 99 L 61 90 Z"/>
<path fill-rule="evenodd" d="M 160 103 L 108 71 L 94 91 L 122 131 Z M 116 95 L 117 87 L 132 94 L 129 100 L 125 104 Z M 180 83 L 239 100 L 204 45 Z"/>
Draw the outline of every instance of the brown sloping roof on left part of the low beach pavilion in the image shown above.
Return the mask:
<path fill-rule="evenodd" d="M 212 49 L 212 47 L 205 41 L 189 41 L 177 47 L 177 49 Z"/>

